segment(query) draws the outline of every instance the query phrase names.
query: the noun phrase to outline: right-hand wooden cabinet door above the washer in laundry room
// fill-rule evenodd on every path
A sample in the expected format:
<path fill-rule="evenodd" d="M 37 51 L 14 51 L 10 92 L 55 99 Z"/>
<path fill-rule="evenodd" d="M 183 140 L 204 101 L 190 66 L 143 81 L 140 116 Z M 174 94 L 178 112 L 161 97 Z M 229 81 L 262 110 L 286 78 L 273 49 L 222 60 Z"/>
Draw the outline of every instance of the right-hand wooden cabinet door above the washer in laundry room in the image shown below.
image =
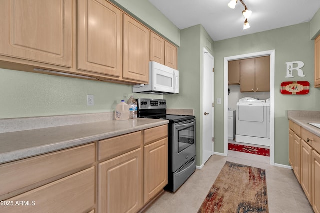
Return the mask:
<path fill-rule="evenodd" d="M 270 56 L 255 59 L 255 91 L 270 91 Z"/>

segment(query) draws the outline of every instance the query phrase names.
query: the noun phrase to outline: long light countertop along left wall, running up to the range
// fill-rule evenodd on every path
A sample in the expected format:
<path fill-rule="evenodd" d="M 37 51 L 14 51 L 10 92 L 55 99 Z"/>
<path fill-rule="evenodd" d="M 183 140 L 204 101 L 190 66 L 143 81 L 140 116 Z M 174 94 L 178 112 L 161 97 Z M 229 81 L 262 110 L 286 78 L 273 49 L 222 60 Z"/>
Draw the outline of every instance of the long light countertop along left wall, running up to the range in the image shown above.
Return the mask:
<path fill-rule="evenodd" d="M 106 120 L 0 133 L 0 164 L 167 124 L 168 120 Z"/>

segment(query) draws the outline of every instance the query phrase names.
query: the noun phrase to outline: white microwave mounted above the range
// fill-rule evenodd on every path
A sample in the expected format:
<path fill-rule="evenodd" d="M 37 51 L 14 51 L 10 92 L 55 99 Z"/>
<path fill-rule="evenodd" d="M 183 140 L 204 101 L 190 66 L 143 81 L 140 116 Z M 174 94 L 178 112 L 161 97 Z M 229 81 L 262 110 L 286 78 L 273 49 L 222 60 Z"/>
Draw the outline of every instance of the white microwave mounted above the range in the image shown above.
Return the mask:
<path fill-rule="evenodd" d="M 149 84 L 133 85 L 133 93 L 179 93 L 179 71 L 155 61 L 149 62 Z"/>

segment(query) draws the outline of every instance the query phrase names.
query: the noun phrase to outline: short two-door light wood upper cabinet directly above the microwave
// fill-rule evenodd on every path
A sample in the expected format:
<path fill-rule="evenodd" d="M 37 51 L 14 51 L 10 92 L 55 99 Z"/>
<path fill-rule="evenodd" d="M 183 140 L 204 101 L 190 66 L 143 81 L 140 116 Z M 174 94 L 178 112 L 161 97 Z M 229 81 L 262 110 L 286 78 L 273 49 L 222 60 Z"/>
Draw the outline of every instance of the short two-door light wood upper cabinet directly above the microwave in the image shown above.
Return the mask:
<path fill-rule="evenodd" d="M 177 69 L 177 48 L 151 31 L 150 60 Z"/>

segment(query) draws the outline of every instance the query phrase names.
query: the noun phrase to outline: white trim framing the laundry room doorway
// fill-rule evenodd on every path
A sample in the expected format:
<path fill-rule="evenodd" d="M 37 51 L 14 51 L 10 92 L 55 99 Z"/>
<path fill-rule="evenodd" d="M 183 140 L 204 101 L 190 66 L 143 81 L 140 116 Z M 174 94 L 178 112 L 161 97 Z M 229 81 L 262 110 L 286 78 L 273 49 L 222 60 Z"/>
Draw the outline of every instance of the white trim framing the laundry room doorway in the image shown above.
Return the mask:
<path fill-rule="evenodd" d="M 270 55 L 270 164 L 274 165 L 274 76 L 275 50 L 224 57 L 224 155 L 228 155 L 228 61 Z"/>

